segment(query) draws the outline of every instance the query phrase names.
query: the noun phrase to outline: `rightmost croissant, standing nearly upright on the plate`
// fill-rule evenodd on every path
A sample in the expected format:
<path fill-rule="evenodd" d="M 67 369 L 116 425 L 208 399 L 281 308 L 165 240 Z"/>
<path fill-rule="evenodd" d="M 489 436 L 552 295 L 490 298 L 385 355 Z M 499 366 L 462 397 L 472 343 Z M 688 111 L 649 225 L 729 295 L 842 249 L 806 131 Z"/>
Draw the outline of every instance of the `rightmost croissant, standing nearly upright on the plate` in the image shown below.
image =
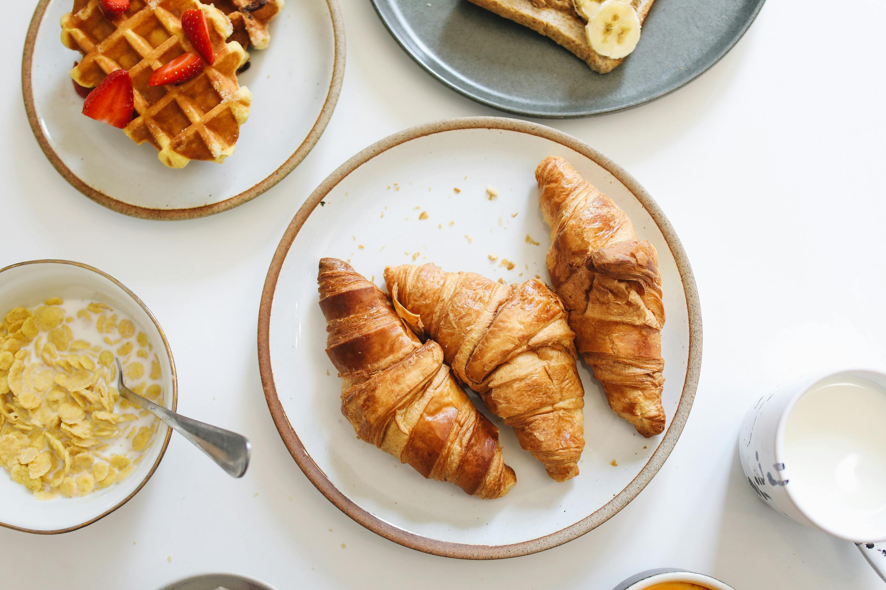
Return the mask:
<path fill-rule="evenodd" d="M 618 416 L 643 436 L 661 433 L 664 305 L 656 249 L 562 157 L 542 160 L 535 178 L 551 228 L 548 272 L 579 353 Z"/>

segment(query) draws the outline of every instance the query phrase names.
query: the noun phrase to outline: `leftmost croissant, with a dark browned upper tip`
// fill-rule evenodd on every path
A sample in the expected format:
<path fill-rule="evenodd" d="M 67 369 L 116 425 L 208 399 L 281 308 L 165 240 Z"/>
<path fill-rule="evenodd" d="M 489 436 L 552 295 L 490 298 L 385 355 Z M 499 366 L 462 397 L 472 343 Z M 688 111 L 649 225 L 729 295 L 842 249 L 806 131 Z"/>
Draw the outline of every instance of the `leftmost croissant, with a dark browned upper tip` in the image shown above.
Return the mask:
<path fill-rule="evenodd" d="M 326 354 L 357 436 L 425 478 L 479 498 L 507 494 L 517 477 L 504 464 L 498 429 L 455 383 L 439 345 L 418 341 L 385 293 L 350 264 L 321 259 L 317 282 Z"/>

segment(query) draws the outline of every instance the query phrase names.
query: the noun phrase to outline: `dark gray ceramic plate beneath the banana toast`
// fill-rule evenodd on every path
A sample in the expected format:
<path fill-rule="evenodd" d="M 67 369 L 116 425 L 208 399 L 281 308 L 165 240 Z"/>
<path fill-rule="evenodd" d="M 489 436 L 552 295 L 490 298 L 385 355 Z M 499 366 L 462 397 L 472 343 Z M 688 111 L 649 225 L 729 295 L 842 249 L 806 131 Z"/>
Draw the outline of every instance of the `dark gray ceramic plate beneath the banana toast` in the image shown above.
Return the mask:
<path fill-rule="evenodd" d="M 547 37 L 468 0 L 373 0 L 388 30 L 450 88 L 529 117 L 587 117 L 680 88 L 732 49 L 765 0 L 657 0 L 640 44 L 594 73 Z"/>

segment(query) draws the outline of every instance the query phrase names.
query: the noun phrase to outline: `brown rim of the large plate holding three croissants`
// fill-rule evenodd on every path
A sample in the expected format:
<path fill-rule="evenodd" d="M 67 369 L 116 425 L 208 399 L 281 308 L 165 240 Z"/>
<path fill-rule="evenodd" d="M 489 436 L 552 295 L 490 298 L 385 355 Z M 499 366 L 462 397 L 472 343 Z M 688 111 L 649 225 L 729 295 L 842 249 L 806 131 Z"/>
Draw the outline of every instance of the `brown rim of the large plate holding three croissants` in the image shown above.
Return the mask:
<path fill-rule="evenodd" d="M 438 134 L 447 131 L 455 131 L 462 129 L 501 129 L 505 131 L 515 131 L 518 133 L 531 134 L 551 142 L 559 143 L 567 148 L 574 149 L 580 154 L 592 159 L 596 164 L 610 172 L 619 181 L 621 181 L 628 190 L 630 190 L 638 201 L 643 205 L 649 215 L 653 218 L 664 236 L 671 249 L 672 256 L 677 264 L 680 272 L 680 279 L 683 283 L 683 291 L 686 294 L 686 304 L 688 310 L 688 327 L 689 327 L 689 349 L 688 364 L 686 371 L 686 380 L 684 381 L 683 391 L 680 395 L 680 403 L 677 406 L 671 424 L 664 433 L 664 438 L 658 445 L 656 451 L 649 457 L 649 461 L 643 466 L 640 473 L 628 484 L 621 492 L 619 492 L 610 502 L 607 502 L 602 508 L 596 510 L 590 516 L 579 520 L 579 522 L 569 525 L 556 533 L 550 533 L 538 539 L 525 540 L 519 543 L 509 545 L 470 545 L 463 543 L 453 543 L 442 540 L 429 539 L 427 537 L 409 533 L 397 526 L 391 525 L 384 520 L 370 514 L 367 510 L 362 509 L 359 505 L 352 502 L 345 494 L 342 494 L 336 488 L 330 479 L 326 477 L 323 470 L 315 464 L 314 459 L 307 454 L 307 450 L 299 440 L 298 434 L 292 428 L 289 418 L 283 405 L 277 396 L 276 386 L 274 383 L 274 372 L 271 366 L 270 358 L 270 318 L 271 307 L 274 303 L 274 292 L 276 282 L 280 276 L 281 269 L 292 242 L 295 240 L 299 230 L 305 224 L 308 216 L 315 210 L 317 203 L 327 195 L 332 188 L 338 185 L 338 182 L 345 179 L 351 172 L 354 172 L 361 165 L 366 164 L 373 157 L 382 154 L 388 149 L 409 142 L 425 135 Z M 698 376 L 701 371 L 702 364 L 702 312 L 701 303 L 698 299 L 698 288 L 696 287 L 696 279 L 693 275 L 692 268 L 689 265 L 686 252 L 680 243 L 680 238 L 674 231 L 671 223 L 664 216 L 664 212 L 658 207 L 658 204 L 652 199 L 645 188 L 642 188 L 633 176 L 628 174 L 623 168 L 612 162 L 608 157 L 603 156 L 596 149 L 591 148 L 587 143 L 581 142 L 571 135 L 552 129 L 548 126 L 530 123 L 518 119 L 505 119 L 500 117 L 472 117 L 466 119 L 448 119 L 435 123 L 427 123 L 425 125 L 411 127 L 397 134 L 392 134 L 385 139 L 373 143 L 368 148 L 363 149 L 356 156 L 347 160 L 340 165 L 335 172 L 323 180 L 319 187 L 307 198 L 307 201 L 301 206 L 299 211 L 292 218 L 290 225 L 286 228 L 283 238 L 271 259 L 268 268 L 268 276 L 265 279 L 265 285 L 261 292 L 261 303 L 259 307 L 259 326 L 258 326 L 258 352 L 259 352 L 259 371 L 261 375 L 261 383 L 265 390 L 265 399 L 268 402 L 268 409 L 274 418 L 274 424 L 281 438 L 289 449 L 289 452 L 296 464 L 299 465 L 301 471 L 305 472 L 307 479 L 320 490 L 320 493 L 338 507 L 338 510 L 344 512 L 347 516 L 353 518 L 361 525 L 368 528 L 373 533 L 377 533 L 385 539 L 392 540 L 404 547 L 413 548 L 425 553 L 431 553 L 437 556 L 457 557 L 462 559 L 501 559 L 505 557 L 525 556 L 532 553 L 538 553 L 545 549 L 554 548 L 565 542 L 576 539 L 595 527 L 602 525 L 614 516 L 619 510 L 623 509 L 628 502 L 631 502 L 641 490 L 649 484 L 649 481 L 655 476 L 657 471 L 661 469 L 664 460 L 671 454 L 671 451 L 680 438 L 683 426 L 689 417 L 689 410 L 692 408 L 692 402 L 696 396 L 696 387 L 698 386 Z"/>

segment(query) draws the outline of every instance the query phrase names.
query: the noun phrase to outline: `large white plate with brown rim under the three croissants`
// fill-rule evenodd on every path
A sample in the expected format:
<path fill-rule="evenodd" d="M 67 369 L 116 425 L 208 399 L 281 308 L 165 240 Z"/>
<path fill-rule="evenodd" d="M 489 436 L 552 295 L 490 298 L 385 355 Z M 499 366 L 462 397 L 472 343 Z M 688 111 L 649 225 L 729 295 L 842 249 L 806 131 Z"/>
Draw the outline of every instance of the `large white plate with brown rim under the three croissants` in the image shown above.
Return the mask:
<path fill-rule="evenodd" d="M 505 461 L 517 471 L 517 486 L 499 500 L 479 500 L 423 479 L 354 438 L 339 410 L 340 381 L 323 352 L 317 263 L 321 257 L 348 260 L 382 287 L 385 264 L 413 261 L 509 282 L 536 273 L 548 280 L 550 242 L 534 171 L 549 155 L 565 157 L 602 188 L 631 216 L 641 238 L 658 249 L 667 318 L 662 348 L 668 429 L 652 439 L 637 434 L 611 412 L 602 388 L 582 364 L 587 447 L 580 475 L 566 483 L 549 479 L 519 447 L 513 431 L 492 417 L 501 430 Z M 487 187 L 497 189 L 498 197 L 490 201 Z M 423 211 L 424 220 L 419 219 Z M 527 242 L 527 235 L 540 245 Z M 490 262 L 489 253 L 499 260 Z M 502 268 L 501 258 L 515 262 L 514 269 Z M 409 129 L 333 172 L 284 234 L 268 272 L 259 322 L 268 405 L 308 478 L 362 525 L 444 556 L 540 551 L 587 533 L 618 512 L 652 479 L 680 436 L 701 364 L 695 280 L 656 203 L 626 172 L 584 143 L 514 119 L 455 119 Z"/>

